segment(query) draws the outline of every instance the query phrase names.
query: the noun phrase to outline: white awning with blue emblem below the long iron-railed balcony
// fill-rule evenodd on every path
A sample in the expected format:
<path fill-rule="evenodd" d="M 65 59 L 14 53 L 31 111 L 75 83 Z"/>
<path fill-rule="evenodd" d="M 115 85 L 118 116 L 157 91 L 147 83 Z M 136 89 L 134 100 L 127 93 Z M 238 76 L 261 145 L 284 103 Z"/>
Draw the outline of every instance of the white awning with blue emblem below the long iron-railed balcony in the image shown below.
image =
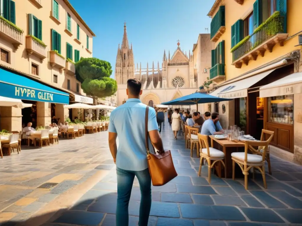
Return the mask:
<path fill-rule="evenodd" d="M 212 96 L 217 96 L 220 98 L 241 98 L 247 97 L 247 90 L 252 85 L 259 82 L 264 77 L 268 76 L 275 69 L 256 74 L 245 79 L 229 83 L 225 86 L 221 86 L 216 89 L 214 92 L 210 93 Z"/>

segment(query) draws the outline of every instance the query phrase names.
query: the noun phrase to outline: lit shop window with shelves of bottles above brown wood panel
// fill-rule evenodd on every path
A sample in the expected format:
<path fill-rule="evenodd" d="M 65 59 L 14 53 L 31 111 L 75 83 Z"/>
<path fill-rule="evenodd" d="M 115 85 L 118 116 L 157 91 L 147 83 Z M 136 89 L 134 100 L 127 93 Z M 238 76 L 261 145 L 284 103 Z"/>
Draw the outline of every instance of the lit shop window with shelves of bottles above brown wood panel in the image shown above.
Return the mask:
<path fill-rule="evenodd" d="M 268 98 L 270 122 L 293 124 L 294 95 L 274 96 Z"/>

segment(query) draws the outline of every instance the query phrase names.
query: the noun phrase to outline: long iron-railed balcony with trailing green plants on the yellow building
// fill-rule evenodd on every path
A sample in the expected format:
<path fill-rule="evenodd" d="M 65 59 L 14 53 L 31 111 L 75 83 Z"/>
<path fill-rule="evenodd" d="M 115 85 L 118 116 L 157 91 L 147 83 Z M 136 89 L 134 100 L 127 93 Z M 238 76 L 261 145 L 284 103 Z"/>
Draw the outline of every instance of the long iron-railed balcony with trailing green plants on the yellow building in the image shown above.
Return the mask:
<path fill-rule="evenodd" d="M 284 40 L 288 38 L 288 33 L 284 33 L 284 17 L 278 11 L 274 14 L 256 28 L 251 36 L 247 36 L 231 49 L 236 68 L 241 68 L 243 63 L 248 65 L 258 55 L 263 57 L 265 51 L 272 52 L 276 44 L 283 46 Z"/>

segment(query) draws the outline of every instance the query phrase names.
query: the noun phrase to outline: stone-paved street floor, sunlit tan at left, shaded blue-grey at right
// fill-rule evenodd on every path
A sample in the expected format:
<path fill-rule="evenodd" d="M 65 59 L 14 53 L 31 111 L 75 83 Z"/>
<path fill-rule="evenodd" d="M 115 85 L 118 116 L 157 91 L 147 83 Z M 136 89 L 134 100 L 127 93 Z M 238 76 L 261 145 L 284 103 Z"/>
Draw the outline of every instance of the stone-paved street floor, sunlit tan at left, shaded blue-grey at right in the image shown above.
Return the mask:
<path fill-rule="evenodd" d="M 0 159 L 1 225 L 115 225 L 117 184 L 107 143 L 108 132 L 85 134 L 59 145 L 22 149 Z M 272 175 L 220 179 L 207 168 L 197 176 L 199 159 L 163 125 L 165 149 L 171 149 L 178 177 L 152 187 L 149 226 L 302 225 L 302 167 L 271 157 Z M 140 191 L 134 180 L 129 226 L 138 224 Z M 4 223 L 3 223 L 4 222 Z M 46 222 L 46 223 L 45 223 Z M 300 224 L 299 224 L 300 223 Z"/>

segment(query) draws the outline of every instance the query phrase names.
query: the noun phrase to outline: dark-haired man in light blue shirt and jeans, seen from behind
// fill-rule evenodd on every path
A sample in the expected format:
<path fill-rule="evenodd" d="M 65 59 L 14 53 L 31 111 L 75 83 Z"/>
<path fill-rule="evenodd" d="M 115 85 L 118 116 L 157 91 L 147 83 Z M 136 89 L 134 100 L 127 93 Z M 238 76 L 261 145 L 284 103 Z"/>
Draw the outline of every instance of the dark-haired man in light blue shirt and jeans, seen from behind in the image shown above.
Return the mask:
<path fill-rule="evenodd" d="M 116 225 L 128 226 L 128 205 L 134 176 L 140 184 L 139 226 L 147 226 L 151 209 L 151 177 L 146 159 L 145 112 L 146 105 L 140 101 L 142 83 L 138 79 L 127 81 L 128 100 L 111 112 L 109 122 L 109 148 L 116 163 L 117 209 Z M 133 120 L 133 118 L 135 120 Z M 154 108 L 148 114 L 149 147 L 151 143 L 163 152 Z M 120 145 L 117 148 L 116 138 Z"/>

